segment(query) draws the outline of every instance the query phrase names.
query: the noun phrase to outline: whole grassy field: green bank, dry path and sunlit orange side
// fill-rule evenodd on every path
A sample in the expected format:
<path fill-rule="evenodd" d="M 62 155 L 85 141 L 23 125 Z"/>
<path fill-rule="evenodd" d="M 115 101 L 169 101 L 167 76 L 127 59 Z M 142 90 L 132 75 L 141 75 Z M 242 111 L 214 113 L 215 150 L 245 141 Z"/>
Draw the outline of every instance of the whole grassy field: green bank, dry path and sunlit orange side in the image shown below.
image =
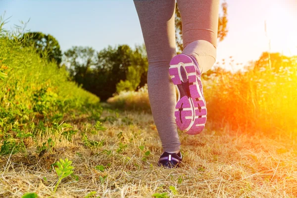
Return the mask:
<path fill-rule="evenodd" d="M 297 197 L 296 62 L 204 79 L 205 130 L 167 169 L 147 88 L 99 103 L 2 25 L 0 198 Z"/>

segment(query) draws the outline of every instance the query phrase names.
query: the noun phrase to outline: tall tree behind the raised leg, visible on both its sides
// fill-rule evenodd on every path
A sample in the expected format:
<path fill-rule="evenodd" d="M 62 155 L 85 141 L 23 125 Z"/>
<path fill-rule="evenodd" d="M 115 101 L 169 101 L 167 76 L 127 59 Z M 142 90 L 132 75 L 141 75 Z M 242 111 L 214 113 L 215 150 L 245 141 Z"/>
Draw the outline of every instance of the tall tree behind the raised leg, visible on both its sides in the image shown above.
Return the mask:
<path fill-rule="evenodd" d="M 218 40 L 223 41 L 224 38 L 227 36 L 228 30 L 227 30 L 227 7 L 228 4 L 226 2 L 223 2 L 221 4 L 223 15 L 219 16 L 219 25 L 218 25 Z M 181 13 L 178 9 L 177 3 L 175 4 L 175 38 L 176 38 L 176 45 L 178 50 L 183 50 L 183 26 L 182 26 L 182 19 L 181 19 Z"/>

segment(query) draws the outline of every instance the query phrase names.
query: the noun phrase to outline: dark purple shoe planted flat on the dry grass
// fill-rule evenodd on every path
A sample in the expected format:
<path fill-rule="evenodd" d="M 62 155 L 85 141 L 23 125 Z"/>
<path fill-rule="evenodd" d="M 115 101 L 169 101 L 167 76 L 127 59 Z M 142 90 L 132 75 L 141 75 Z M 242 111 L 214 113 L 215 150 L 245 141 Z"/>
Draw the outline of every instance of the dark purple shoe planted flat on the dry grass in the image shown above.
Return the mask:
<path fill-rule="evenodd" d="M 178 153 L 170 153 L 165 151 L 159 158 L 158 166 L 165 166 L 168 168 L 180 167 L 182 157 L 181 151 Z"/>

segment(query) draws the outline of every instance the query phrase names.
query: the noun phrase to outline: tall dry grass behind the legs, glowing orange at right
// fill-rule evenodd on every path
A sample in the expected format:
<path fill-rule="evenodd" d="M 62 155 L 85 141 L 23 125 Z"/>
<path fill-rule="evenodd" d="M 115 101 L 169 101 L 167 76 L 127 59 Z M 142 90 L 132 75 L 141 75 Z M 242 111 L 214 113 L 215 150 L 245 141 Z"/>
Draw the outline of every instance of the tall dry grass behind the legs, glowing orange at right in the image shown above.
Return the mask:
<path fill-rule="evenodd" d="M 208 75 L 204 74 L 208 121 L 218 125 L 228 123 L 233 130 L 296 137 L 297 57 L 292 57 L 289 65 L 285 63 L 279 61 L 273 69 L 252 63 L 244 72 L 215 67 Z M 107 101 L 121 109 L 150 110 L 146 87 L 141 92 L 120 93 Z"/>

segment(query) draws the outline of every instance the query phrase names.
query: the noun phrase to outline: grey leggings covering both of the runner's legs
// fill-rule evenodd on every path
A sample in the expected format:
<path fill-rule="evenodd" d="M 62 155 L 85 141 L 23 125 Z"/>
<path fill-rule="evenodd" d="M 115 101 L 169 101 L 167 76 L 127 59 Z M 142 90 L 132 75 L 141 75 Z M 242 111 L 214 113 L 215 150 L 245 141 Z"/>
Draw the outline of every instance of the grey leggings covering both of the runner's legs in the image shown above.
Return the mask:
<path fill-rule="evenodd" d="M 182 53 L 193 54 L 202 73 L 215 62 L 219 0 L 177 0 L 182 17 Z M 168 73 L 176 55 L 175 0 L 134 0 L 148 54 L 148 96 L 164 151 L 180 149 L 175 124 L 176 91 Z"/>

